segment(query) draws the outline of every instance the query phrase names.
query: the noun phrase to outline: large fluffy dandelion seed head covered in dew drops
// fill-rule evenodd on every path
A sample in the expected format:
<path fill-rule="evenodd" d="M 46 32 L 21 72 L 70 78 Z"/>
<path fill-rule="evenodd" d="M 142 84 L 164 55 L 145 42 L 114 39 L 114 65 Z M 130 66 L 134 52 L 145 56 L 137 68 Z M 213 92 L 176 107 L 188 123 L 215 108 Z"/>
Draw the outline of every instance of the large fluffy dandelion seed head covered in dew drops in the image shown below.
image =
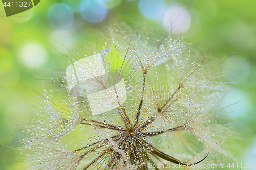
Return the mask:
<path fill-rule="evenodd" d="M 227 91 L 220 84 L 219 61 L 200 56 L 179 37 L 157 33 L 144 25 L 129 29 L 118 24 L 110 28 L 110 37 L 99 36 L 105 44 L 100 51 L 69 51 L 70 61 L 98 55 L 107 78 L 94 75 L 96 60 L 91 67 L 80 63 L 93 85 L 84 85 L 76 70 L 69 76 L 82 84 L 79 95 L 73 95 L 66 76 L 64 103 L 44 96 L 39 114 L 44 121 L 35 118 L 25 141 L 34 169 L 148 169 L 165 162 L 187 169 L 204 161 L 229 160 L 223 141 L 231 131 L 219 107 Z M 113 107 L 92 116 L 87 92 L 108 89 L 116 84 L 114 77 L 123 80 L 126 102 L 115 87 Z M 95 100 L 101 98 L 108 95 Z M 72 135 L 77 136 L 66 139 Z"/>

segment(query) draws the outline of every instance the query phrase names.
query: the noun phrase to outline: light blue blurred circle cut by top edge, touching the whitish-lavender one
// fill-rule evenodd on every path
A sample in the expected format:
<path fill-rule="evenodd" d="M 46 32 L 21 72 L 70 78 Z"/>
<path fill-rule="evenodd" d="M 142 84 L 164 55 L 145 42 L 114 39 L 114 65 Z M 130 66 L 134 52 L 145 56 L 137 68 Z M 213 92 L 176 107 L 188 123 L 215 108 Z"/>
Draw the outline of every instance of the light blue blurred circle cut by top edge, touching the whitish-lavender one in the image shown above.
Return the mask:
<path fill-rule="evenodd" d="M 161 19 L 165 11 L 165 2 L 163 0 L 140 0 L 139 10 L 149 19 Z"/>

